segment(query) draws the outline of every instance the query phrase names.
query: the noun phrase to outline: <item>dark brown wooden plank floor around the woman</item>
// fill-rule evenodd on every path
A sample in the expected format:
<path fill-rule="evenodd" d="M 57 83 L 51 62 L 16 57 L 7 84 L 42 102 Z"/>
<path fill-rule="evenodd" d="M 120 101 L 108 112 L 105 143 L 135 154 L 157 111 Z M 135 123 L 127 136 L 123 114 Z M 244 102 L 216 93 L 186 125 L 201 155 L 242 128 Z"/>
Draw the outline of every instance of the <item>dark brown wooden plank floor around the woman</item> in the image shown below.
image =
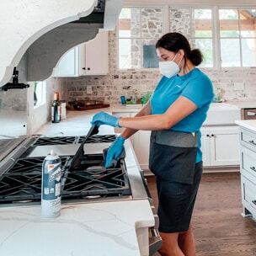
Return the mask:
<path fill-rule="evenodd" d="M 157 207 L 153 176 L 147 184 Z M 197 256 L 256 255 L 256 221 L 241 216 L 240 188 L 238 172 L 203 174 L 192 218 Z"/>

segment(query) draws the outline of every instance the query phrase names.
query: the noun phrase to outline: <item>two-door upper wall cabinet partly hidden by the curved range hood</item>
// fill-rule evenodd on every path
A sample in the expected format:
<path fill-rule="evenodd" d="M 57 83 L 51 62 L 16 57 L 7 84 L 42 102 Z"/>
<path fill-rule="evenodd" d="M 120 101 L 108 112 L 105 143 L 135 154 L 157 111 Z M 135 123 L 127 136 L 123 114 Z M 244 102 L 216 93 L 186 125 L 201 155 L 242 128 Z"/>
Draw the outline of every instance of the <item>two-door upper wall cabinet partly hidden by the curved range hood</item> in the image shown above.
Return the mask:
<path fill-rule="evenodd" d="M 61 56 L 53 77 L 106 75 L 109 72 L 109 32 L 100 30 L 93 40 L 77 45 Z"/>

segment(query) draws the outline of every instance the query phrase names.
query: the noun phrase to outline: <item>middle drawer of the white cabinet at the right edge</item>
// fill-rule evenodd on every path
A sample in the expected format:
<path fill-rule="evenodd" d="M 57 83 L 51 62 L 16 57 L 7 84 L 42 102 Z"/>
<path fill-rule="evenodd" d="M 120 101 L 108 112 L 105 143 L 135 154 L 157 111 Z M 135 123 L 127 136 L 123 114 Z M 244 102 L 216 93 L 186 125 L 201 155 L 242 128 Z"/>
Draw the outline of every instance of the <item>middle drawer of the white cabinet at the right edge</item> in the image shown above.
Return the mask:
<path fill-rule="evenodd" d="M 250 173 L 256 179 L 256 153 L 242 147 L 241 173 L 244 172 Z"/>

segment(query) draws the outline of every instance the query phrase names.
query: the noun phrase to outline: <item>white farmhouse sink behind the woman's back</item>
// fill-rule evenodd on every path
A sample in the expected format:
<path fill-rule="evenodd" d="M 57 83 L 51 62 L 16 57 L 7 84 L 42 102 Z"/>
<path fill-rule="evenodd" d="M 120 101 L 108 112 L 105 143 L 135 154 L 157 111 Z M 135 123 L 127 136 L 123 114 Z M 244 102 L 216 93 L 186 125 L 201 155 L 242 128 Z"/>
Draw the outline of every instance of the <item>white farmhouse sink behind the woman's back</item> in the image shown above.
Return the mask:
<path fill-rule="evenodd" d="M 241 120 L 241 109 L 233 104 L 212 103 L 203 125 L 235 125 Z"/>

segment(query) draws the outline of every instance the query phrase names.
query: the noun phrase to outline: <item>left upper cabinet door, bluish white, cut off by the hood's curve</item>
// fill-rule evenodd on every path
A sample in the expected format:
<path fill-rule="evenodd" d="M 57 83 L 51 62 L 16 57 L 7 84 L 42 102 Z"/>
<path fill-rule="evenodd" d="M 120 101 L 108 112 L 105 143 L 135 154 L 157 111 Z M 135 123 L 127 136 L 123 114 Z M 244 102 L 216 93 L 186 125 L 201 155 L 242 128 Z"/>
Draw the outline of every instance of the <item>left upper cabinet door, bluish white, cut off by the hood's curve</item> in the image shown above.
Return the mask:
<path fill-rule="evenodd" d="M 77 77 L 78 76 L 79 49 L 74 47 L 67 51 L 53 69 L 53 77 Z"/>

